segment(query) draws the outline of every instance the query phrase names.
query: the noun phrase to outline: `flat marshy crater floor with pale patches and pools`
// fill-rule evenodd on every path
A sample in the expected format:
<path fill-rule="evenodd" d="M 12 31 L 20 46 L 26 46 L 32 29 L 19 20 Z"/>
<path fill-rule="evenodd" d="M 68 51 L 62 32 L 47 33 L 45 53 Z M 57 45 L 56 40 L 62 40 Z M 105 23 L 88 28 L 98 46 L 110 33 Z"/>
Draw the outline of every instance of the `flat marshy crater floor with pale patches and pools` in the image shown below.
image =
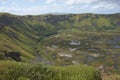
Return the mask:
<path fill-rule="evenodd" d="M 47 37 L 39 45 L 56 65 L 87 64 L 103 66 L 106 72 L 119 72 L 119 37 L 119 31 L 65 30 Z M 72 45 L 72 41 L 77 41 L 77 45 Z"/>

